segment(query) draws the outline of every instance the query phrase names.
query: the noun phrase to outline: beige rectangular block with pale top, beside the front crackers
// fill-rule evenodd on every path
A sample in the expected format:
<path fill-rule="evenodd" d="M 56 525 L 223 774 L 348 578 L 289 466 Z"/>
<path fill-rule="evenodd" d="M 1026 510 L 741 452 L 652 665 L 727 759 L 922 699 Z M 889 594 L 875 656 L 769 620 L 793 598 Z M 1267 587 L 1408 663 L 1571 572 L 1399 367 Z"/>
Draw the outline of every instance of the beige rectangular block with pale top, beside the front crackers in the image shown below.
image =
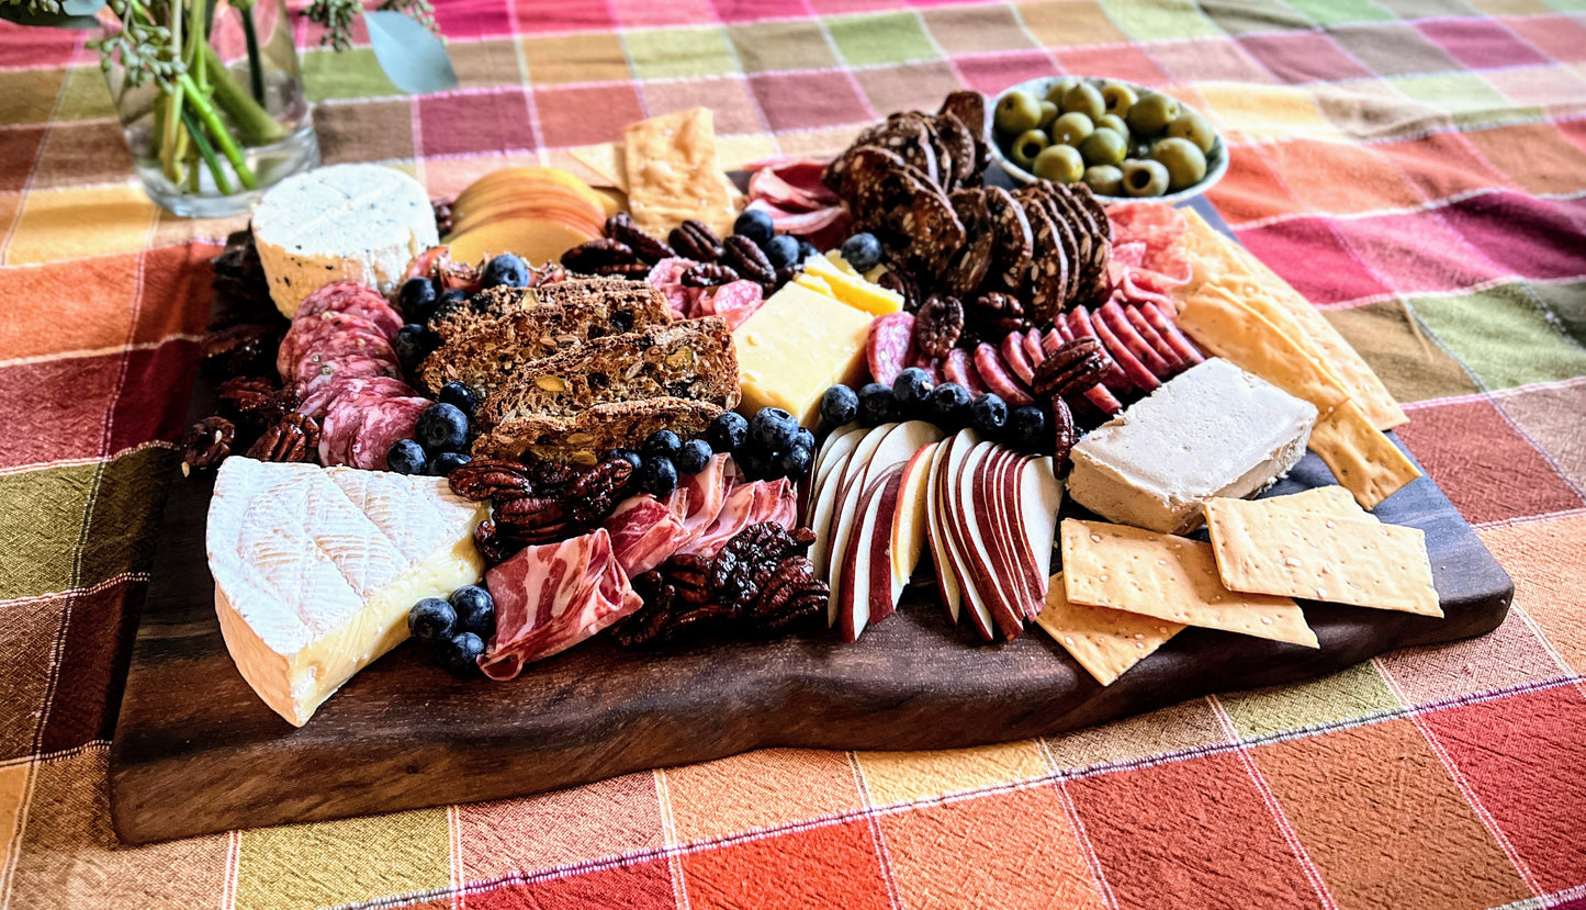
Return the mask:
<path fill-rule="evenodd" d="M 1315 423 L 1310 403 L 1210 358 L 1074 445 L 1069 496 L 1120 525 L 1183 534 L 1212 496 L 1253 496 L 1288 474 Z"/>

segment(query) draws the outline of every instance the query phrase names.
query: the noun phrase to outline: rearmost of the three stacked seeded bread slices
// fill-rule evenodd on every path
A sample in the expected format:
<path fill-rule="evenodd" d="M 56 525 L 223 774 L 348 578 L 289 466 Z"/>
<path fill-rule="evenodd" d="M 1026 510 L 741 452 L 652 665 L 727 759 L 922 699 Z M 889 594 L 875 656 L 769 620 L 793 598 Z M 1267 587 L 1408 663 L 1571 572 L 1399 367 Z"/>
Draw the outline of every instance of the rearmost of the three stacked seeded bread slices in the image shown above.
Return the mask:
<path fill-rule="evenodd" d="M 481 400 L 509 385 L 528 365 L 596 338 L 671 322 L 666 298 L 650 293 L 541 303 L 476 322 L 454 335 L 419 368 L 419 384 L 438 395 L 447 382 L 468 385 Z"/>

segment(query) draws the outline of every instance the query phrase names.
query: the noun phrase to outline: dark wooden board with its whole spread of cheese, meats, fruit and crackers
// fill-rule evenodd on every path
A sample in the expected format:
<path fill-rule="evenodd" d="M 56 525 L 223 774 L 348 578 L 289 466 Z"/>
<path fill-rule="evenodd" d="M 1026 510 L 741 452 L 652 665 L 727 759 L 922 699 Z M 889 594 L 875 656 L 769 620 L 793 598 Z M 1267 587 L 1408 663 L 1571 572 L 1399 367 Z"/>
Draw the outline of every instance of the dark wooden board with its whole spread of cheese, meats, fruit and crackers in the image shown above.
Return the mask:
<path fill-rule="evenodd" d="M 747 193 L 703 108 L 584 149 L 609 185 L 273 189 L 216 262 L 122 837 L 1052 734 L 1494 628 L 1310 303 L 1191 209 L 986 179 L 1066 95 L 1221 149 L 1104 89 L 955 92 Z"/>

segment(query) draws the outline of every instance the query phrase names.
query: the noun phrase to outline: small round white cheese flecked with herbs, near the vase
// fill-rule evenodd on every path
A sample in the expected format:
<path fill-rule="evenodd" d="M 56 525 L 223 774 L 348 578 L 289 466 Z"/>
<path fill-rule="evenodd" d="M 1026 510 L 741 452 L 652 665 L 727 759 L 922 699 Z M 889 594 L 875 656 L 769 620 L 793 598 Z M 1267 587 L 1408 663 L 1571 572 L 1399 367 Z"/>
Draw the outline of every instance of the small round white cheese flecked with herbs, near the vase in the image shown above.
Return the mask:
<path fill-rule="evenodd" d="M 254 211 L 270 298 L 285 317 L 333 281 L 390 296 L 408 263 L 441 243 L 419 181 L 381 165 L 331 165 L 287 178 Z"/>

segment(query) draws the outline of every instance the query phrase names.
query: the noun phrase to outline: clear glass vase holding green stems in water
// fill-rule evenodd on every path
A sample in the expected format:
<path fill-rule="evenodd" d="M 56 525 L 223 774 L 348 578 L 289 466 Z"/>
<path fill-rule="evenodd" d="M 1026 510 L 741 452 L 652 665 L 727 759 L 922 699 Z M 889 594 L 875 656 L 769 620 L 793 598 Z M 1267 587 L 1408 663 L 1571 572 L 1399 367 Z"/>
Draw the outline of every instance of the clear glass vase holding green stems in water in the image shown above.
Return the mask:
<path fill-rule="evenodd" d="M 162 208 L 186 217 L 251 211 L 266 189 L 319 163 L 285 0 L 163 0 L 140 8 L 179 38 L 163 79 L 124 60 L 106 79 L 133 166 Z M 197 36 L 197 40 L 195 40 Z"/>

